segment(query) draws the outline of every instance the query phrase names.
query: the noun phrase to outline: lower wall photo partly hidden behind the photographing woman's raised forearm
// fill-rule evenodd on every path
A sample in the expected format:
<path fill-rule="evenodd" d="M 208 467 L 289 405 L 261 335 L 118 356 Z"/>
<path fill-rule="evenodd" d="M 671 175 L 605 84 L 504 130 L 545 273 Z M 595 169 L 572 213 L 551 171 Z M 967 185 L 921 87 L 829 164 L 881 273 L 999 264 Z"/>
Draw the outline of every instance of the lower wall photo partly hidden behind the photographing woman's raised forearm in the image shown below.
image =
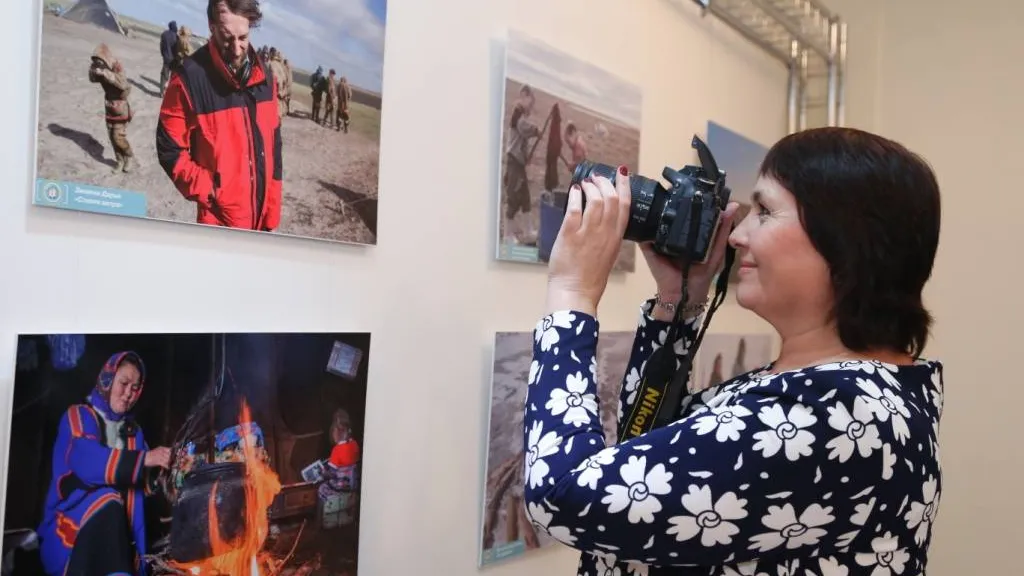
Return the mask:
<path fill-rule="evenodd" d="M 600 416 L 608 443 L 616 442 L 618 392 L 635 335 L 602 332 L 597 345 Z M 480 566 L 558 543 L 535 527 L 523 509 L 522 416 L 532 346 L 531 332 L 499 332 L 495 337 Z"/>

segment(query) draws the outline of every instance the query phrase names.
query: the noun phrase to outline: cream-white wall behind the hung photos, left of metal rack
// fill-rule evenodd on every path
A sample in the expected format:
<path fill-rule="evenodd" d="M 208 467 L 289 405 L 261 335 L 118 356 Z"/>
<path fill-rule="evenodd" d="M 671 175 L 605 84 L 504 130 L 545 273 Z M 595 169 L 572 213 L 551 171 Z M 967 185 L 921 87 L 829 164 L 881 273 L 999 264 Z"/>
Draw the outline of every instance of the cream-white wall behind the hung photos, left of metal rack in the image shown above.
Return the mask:
<path fill-rule="evenodd" d="M 33 132 L 45 121 L 33 102 L 39 6 L 9 2 L 0 20 L 0 446 L 19 332 L 369 330 L 360 574 L 473 574 L 490 343 L 497 330 L 531 329 L 545 291 L 542 268 L 493 259 L 501 87 L 492 38 L 520 28 L 639 83 L 650 175 L 689 159 L 708 119 L 766 145 L 781 136 L 784 70 L 700 19 L 692 2 L 673 6 L 391 0 L 380 242 L 358 247 L 31 207 Z M 606 329 L 632 329 L 652 293 L 637 256 L 640 272 L 606 293 Z M 716 331 L 764 329 L 730 302 L 717 319 Z M 492 573 L 570 574 L 574 563 L 555 548 Z"/>

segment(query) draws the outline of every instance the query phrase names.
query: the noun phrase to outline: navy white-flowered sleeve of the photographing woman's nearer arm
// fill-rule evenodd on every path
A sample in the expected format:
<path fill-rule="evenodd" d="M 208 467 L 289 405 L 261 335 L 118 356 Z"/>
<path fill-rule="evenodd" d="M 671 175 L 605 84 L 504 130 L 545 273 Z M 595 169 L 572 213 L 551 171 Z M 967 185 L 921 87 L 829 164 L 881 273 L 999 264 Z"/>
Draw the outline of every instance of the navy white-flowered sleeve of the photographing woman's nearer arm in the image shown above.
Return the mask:
<path fill-rule="evenodd" d="M 711 402 L 608 447 L 597 336 L 597 320 L 578 312 L 550 315 L 536 329 L 524 438 L 525 505 L 536 526 L 584 551 L 659 566 L 810 552 L 857 534 L 856 519 L 868 510 L 845 492 L 856 485 L 842 478 L 849 454 L 835 459 L 833 443 L 815 445 L 842 436 L 829 427 L 842 425 L 829 420 L 837 400 L 822 404 L 835 390 L 819 399 L 831 386 L 812 386 L 821 376 L 769 378 L 756 394 Z"/>

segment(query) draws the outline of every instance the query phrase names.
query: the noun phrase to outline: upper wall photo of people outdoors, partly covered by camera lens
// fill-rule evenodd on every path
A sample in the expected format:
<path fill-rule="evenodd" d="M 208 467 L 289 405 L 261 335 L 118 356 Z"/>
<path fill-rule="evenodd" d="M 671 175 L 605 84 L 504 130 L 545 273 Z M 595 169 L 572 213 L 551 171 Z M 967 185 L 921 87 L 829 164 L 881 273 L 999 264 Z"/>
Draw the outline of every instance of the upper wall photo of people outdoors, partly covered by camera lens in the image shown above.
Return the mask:
<path fill-rule="evenodd" d="M 516 31 L 505 46 L 498 259 L 547 262 L 582 160 L 636 172 L 642 96 L 638 86 Z M 633 272 L 624 242 L 614 271 Z"/>

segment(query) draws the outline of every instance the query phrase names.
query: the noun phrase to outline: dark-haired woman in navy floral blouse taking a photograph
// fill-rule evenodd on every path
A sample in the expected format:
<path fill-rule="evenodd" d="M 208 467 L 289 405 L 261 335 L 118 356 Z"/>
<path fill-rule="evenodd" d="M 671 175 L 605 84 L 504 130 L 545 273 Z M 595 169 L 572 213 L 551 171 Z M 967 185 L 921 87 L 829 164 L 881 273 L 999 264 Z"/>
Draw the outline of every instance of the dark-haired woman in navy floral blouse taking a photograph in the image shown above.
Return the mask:
<path fill-rule="evenodd" d="M 596 315 L 629 217 L 625 168 L 616 183 L 570 191 L 552 250 L 525 403 L 527 516 L 583 551 L 580 575 L 924 574 L 941 492 L 942 365 L 921 357 L 940 220 L 931 169 L 854 129 L 779 140 L 750 213 L 733 222 L 731 204 L 731 234 L 691 268 L 674 342 L 681 271 L 641 246 L 657 294 L 641 306 L 627 374 L 660 346 L 685 358 L 727 242 L 737 303 L 781 347 L 685 397 L 671 424 L 606 446 Z M 637 386 L 624 382 L 620 418 Z"/>

